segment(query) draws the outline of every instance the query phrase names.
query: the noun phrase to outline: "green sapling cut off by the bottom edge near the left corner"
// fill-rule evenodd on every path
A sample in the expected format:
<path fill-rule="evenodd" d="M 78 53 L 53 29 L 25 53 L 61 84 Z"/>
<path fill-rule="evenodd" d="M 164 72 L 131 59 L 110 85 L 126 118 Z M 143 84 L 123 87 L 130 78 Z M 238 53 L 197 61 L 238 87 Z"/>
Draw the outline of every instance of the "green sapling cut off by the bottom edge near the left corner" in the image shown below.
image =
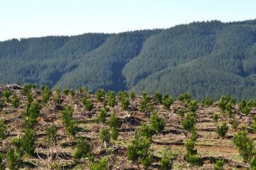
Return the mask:
<path fill-rule="evenodd" d="M 15 152 L 13 149 L 10 149 L 7 152 L 7 160 L 8 160 L 8 168 L 10 170 L 18 170 L 22 163 L 19 152 Z"/>

